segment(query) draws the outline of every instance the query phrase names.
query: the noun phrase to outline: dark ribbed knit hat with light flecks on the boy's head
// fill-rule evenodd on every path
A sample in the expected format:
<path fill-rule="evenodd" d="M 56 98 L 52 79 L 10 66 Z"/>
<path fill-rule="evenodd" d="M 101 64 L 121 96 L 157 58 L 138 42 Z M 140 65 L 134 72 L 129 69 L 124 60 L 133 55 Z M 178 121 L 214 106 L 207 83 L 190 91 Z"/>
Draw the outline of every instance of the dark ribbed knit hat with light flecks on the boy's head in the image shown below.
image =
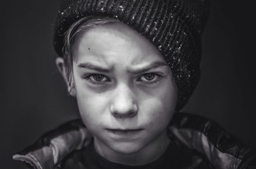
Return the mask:
<path fill-rule="evenodd" d="M 201 34 L 208 15 L 207 0 L 62 0 L 54 48 L 63 57 L 65 32 L 83 17 L 117 18 L 161 52 L 175 77 L 180 110 L 200 78 Z"/>

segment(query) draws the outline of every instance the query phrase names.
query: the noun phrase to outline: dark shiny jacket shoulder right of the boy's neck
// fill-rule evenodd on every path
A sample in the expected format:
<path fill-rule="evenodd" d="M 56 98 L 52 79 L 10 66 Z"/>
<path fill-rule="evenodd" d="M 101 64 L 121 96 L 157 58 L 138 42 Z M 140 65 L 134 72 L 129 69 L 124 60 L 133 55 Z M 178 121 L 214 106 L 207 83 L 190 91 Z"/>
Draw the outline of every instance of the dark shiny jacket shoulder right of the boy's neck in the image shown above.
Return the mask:
<path fill-rule="evenodd" d="M 256 160 L 255 152 L 205 117 L 175 114 L 168 131 L 218 169 L 247 169 Z"/>

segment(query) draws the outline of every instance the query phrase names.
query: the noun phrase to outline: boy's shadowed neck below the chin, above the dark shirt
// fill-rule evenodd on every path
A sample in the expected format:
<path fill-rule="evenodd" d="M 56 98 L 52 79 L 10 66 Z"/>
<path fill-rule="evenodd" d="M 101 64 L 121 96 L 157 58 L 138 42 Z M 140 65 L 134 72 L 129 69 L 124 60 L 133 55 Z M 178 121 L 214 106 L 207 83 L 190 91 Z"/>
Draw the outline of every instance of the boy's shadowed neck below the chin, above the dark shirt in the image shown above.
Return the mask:
<path fill-rule="evenodd" d="M 146 165 L 160 158 L 167 149 L 170 143 L 170 138 L 168 138 L 166 131 L 164 131 L 153 142 L 147 143 L 147 145 L 134 152 L 122 152 L 113 148 L 111 149 L 111 147 L 106 145 L 106 143 L 100 142 L 96 137 L 93 142 L 95 150 L 109 161 L 120 163 L 122 165 L 136 166 Z M 129 149 L 129 147 L 127 148 Z"/>

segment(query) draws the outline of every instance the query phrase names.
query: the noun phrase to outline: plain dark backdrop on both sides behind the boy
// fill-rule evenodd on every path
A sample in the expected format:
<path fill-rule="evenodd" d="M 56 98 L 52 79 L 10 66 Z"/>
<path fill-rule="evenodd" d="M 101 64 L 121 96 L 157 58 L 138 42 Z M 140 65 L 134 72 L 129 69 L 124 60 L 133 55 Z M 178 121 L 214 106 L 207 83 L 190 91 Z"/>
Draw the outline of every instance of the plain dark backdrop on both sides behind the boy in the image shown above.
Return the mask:
<path fill-rule="evenodd" d="M 0 2 L 0 163 L 78 116 L 56 70 L 52 29 L 58 1 Z M 185 110 L 217 121 L 256 148 L 255 9 L 250 0 L 212 1 L 203 37 L 202 78 Z"/>

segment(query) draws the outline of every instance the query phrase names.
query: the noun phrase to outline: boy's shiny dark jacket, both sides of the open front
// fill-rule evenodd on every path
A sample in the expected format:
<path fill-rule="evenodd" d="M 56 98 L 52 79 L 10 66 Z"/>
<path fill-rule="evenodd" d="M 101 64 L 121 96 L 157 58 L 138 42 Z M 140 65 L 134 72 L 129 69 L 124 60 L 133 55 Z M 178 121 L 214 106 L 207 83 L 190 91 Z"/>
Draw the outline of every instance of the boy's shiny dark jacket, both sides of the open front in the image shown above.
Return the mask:
<path fill-rule="evenodd" d="M 168 126 L 168 135 L 204 157 L 195 155 L 189 161 L 188 168 L 255 168 L 255 154 L 216 122 L 204 117 L 175 114 Z M 26 162 L 35 169 L 79 169 L 79 161 L 72 156 L 72 152 L 81 150 L 91 140 L 92 135 L 77 119 L 46 133 L 35 144 L 15 154 L 13 159 Z"/>

